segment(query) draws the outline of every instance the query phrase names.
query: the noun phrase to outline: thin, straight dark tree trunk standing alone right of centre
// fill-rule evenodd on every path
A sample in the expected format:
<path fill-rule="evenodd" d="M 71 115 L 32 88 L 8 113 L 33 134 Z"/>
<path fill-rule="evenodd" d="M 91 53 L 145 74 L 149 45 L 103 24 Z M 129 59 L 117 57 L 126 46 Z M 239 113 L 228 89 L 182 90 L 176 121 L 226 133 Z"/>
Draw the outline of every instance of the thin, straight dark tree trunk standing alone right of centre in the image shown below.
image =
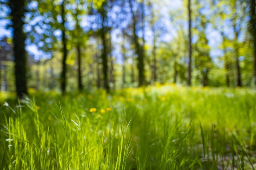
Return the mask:
<path fill-rule="evenodd" d="M 188 79 L 187 84 L 191 86 L 191 60 L 192 60 L 192 45 L 191 45 L 191 7 L 190 7 L 190 1 L 188 4 L 188 10 L 189 10 L 189 67 L 188 67 Z"/>

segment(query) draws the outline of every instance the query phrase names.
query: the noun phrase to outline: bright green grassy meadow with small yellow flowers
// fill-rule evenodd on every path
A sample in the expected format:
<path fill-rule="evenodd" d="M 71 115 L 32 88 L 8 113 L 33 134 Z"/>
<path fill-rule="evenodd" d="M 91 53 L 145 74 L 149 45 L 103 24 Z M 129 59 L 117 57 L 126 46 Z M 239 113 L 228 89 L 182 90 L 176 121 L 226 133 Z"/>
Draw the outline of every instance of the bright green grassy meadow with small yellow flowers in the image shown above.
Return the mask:
<path fill-rule="evenodd" d="M 255 89 L 1 96 L 1 170 L 256 168 Z"/>

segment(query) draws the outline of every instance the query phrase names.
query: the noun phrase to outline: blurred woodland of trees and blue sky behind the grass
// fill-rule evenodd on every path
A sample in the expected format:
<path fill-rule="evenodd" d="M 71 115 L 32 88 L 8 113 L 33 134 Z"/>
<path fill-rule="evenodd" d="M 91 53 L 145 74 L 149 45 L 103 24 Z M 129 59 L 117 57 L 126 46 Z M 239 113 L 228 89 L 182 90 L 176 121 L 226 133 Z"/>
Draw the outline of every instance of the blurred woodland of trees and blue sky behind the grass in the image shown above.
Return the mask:
<path fill-rule="evenodd" d="M 255 0 L 0 2 L 1 91 L 256 84 Z"/>

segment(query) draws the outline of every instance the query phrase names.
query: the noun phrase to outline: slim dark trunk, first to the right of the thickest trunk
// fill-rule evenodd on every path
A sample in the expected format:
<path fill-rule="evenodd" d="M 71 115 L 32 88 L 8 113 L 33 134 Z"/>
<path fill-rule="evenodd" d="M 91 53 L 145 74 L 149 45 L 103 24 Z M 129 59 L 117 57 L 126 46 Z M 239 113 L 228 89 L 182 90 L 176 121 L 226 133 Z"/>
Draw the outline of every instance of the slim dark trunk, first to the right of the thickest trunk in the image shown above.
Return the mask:
<path fill-rule="evenodd" d="M 62 18 L 62 45 L 63 45 L 63 60 L 62 60 L 62 74 L 61 74 L 61 91 L 62 94 L 65 94 L 66 91 L 66 73 L 67 73 L 67 39 L 65 35 L 65 0 L 61 4 L 61 18 Z"/>

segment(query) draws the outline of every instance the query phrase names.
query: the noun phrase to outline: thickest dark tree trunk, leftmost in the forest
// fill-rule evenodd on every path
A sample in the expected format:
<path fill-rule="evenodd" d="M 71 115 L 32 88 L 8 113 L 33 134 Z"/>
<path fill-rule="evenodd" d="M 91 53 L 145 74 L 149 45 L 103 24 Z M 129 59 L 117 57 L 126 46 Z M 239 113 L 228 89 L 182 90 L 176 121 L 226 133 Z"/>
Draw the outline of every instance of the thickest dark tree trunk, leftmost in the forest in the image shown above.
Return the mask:
<path fill-rule="evenodd" d="M 26 35 L 22 30 L 25 12 L 25 0 L 11 0 L 9 3 L 13 27 L 13 53 L 15 62 L 16 93 L 18 97 L 27 94 L 26 66 L 27 57 L 25 52 Z"/>

